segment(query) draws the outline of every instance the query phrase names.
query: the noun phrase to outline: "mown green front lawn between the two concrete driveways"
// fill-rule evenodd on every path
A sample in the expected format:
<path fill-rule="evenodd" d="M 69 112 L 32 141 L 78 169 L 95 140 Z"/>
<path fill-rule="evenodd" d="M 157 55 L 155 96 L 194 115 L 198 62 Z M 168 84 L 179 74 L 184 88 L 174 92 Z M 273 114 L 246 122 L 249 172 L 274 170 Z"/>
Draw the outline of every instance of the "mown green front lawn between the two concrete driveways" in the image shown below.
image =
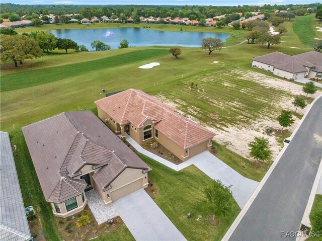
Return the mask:
<path fill-rule="evenodd" d="M 230 212 L 218 217 L 218 226 L 212 226 L 208 217 L 213 213 L 203 192 L 212 179 L 194 166 L 176 172 L 147 156 L 138 155 L 152 168 L 148 176 L 157 187 L 153 200 L 179 231 L 188 240 L 220 240 L 240 211 L 237 203 L 233 200 Z M 187 218 L 187 213 L 191 213 L 191 218 Z"/>

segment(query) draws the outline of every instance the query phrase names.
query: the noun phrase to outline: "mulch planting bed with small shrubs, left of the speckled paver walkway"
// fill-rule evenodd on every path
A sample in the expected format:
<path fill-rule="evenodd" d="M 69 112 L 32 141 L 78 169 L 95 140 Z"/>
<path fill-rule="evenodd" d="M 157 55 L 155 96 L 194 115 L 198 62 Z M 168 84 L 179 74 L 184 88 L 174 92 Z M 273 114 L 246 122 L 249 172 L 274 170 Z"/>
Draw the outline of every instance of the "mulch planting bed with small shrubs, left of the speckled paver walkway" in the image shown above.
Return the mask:
<path fill-rule="evenodd" d="M 90 222 L 87 225 L 78 228 L 76 226 L 76 222 L 84 215 L 88 215 L 90 217 Z M 75 219 L 72 219 L 71 216 L 67 218 L 56 217 L 56 226 L 63 240 L 89 240 L 91 238 L 100 236 L 106 231 L 117 230 L 123 224 L 121 217 L 117 216 L 113 218 L 114 223 L 112 225 L 108 222 L 98 225 L 88 205 L 86 205 L 83 211 L 76 213 L 74 217 Z"/>

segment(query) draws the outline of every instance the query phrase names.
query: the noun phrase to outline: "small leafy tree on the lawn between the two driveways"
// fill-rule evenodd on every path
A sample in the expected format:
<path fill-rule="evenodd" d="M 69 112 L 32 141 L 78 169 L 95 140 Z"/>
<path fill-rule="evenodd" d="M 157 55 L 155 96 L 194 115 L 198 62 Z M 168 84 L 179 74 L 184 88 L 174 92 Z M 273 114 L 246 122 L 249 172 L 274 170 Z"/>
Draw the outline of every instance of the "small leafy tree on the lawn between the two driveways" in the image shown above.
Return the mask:
<path fill-rule="evenodd" d="M 231 207 L 231 186 L 225 186 L 220 180 L 214 180 L 213 184 L 207 187 L 204 191 L 214 215 L 212 221 L 215 220 L 215 215 L 226 214 Z"/>

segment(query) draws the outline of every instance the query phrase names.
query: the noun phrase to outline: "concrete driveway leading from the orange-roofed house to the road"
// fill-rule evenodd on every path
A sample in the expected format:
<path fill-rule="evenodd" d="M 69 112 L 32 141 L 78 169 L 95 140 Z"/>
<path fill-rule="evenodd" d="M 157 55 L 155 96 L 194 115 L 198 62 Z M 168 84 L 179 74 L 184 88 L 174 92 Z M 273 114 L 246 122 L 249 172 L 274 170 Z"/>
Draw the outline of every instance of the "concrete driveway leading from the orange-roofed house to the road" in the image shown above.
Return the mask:
<path fill-rule="evenodd" d="M 209 151 L 204 151 L 189 159 L 193 165 L 199 168 L 211 179 L 220 179 L 223 184 L 231 187 L 232 196 L 240 208 L 243 208 L 252 196 L 259 182 L 245 178 L 230 168 Z"/>

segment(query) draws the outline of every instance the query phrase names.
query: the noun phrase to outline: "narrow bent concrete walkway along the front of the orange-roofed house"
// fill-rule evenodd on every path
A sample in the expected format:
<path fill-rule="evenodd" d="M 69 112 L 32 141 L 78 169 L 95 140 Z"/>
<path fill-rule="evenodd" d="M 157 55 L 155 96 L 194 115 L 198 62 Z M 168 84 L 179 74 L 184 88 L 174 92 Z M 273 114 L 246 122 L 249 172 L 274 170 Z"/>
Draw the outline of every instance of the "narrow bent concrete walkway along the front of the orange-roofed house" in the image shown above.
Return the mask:
<path fill-rule="evenodd" d="M 166 159 L 164 159 L 164 158 L 162 158 L 162 157 L 160 157 L 160 156 L 158 156 L 156 154 L 153 154 L 152 152 L 147 151 L 146 149 L 144 149 L 142 146 L 140 146 L 135 140 L 133 140 L 129 136 L 126 137 L 126 140 L 138 152 L 140 152 L 140 153 L 142 153 L 142 154 L 144 154 L 144 155 L 146 155 L 146 156 L 148 156 L 148 157 L 156 160 L 156 162 L 161 163 L 161 164 L 163 164 L 163 165 L 167 166 L 168 168 L 171 168 L 171 169 L 173 169 L 175 171 L 180 171 L 180 170 L 182 170 L 182 169 L 184 169 L 184 168 L 189 167 L 190 165 L 192 165 L 192 163 L 190 163 L 189 160 L 186 161 L 186 162 L 184 162 L 184 163 L 182 163 L 182 164 L 176 165 L 176 164 L 174 164 L 172 162 L 169 162 L 169 160 L 166 160 Z"/>

